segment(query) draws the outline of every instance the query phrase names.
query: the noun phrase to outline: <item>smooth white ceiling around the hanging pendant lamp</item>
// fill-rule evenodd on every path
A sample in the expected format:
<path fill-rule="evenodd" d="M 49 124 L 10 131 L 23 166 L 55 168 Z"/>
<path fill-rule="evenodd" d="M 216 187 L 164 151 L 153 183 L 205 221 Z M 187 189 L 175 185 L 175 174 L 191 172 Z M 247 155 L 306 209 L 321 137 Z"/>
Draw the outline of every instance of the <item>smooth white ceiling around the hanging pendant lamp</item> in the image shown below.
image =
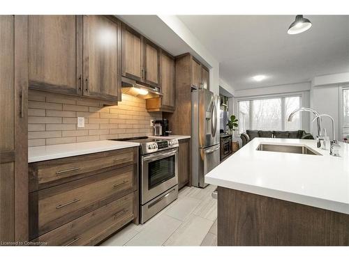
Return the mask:
<path fill-rule="evenodd" d="M 179 15 L 220 62 L 235 90 L 310 81 L 349 72 L 349 15 L 304 15 L 313 26 L 288 35 L 290 15 Z M 257 82 L 251 77 L 265 74 Z"/>

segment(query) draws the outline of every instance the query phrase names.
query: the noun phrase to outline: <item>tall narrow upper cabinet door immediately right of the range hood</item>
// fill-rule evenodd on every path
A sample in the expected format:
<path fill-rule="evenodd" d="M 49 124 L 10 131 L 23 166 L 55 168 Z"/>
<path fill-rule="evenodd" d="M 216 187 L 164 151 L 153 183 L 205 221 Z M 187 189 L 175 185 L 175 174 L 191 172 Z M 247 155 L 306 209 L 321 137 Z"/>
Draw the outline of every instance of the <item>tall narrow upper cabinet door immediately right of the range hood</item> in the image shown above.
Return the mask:
<path fill-rule="evenodd" d="M 161 54 L 161 91 L 163 97 L 161 106 L 163 109 L 174 111 L 176 102 L 175 86 L 175 64 L 174 59 L 165 53 Z"/>

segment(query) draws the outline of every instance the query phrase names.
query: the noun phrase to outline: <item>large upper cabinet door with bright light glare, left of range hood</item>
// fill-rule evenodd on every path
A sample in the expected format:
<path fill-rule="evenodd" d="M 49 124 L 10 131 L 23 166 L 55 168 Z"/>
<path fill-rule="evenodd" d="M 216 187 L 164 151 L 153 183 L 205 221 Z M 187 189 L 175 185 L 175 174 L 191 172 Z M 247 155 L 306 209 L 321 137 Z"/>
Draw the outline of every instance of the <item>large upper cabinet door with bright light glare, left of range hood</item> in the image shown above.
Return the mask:
<path fill-rule="evenodd" d="M 121 88 L 119 23 L 100 15 L 84 15 L 84 95 L 117 101 Z"/>

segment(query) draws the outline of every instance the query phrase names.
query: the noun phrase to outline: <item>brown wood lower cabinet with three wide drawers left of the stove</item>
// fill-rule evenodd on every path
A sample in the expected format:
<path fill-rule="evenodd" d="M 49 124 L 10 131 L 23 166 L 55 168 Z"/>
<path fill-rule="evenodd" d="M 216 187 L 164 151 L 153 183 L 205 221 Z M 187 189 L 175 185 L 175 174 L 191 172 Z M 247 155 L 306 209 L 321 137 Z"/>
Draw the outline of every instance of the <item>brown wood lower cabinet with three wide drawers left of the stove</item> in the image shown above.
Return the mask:
<path fill-rule="evenodd" d="M 138 223 L 138 148 L 33 163 L 29 170 L 32 242 L 94 245 Z"/>

